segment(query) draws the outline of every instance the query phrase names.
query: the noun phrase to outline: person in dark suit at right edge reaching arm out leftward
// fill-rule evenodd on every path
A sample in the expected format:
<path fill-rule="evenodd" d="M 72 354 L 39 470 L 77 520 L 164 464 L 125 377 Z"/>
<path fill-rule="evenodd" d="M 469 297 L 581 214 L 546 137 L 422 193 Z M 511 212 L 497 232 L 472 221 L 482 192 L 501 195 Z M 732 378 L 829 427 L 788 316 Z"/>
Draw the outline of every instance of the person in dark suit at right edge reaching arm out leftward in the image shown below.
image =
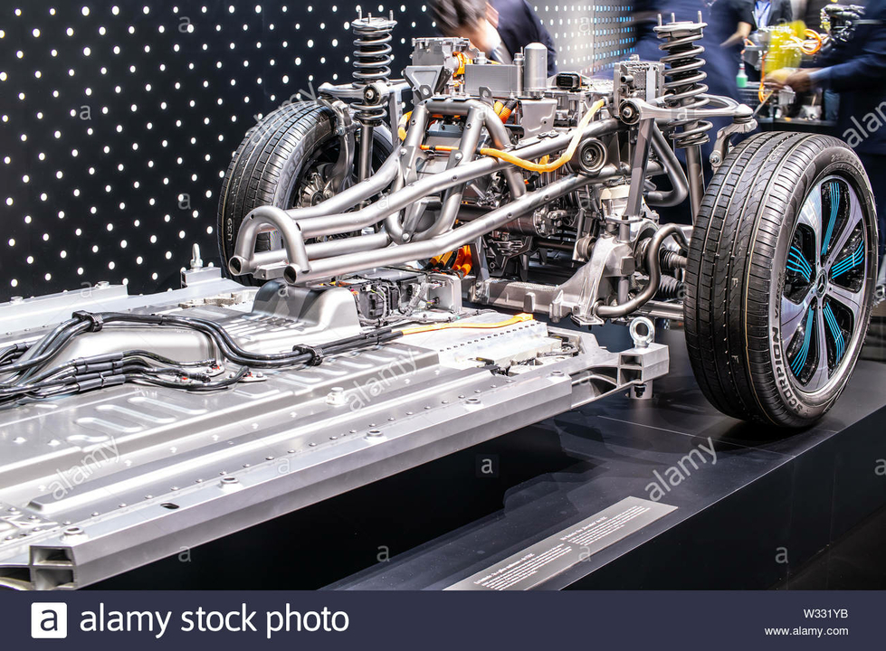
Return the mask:
<path fill-rule="evenodd" d="M 782 69 L 767 74 L 773 86 L 796 92 L 824 88 L 840 93 L 837 135 L 853 147 L 871 179 L 877 204 L 879 251 L 886 243 L 886 0 L 870 0 L 864 20 L 848 42 L 834 46 L 817 68 Z"/>

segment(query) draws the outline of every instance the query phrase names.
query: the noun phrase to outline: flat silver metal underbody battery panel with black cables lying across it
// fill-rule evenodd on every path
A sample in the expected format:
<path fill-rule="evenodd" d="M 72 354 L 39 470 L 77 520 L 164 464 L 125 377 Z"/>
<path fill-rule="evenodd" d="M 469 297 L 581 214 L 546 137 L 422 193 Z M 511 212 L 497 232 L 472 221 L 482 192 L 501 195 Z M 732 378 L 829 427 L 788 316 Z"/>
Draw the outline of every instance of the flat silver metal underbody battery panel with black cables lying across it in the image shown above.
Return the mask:
<path fill-rule="evenodd" d="M 184 293 L 130 298 L 116 288 L 113 299 L 115 308 L 212 319 L 255 350 L 318 344 L 324 336 L 310 323 L 256 311 L 255 290 L 232 285 L 205 279 Z M 70 314 L 69 300 L 44 297 L 39 305 L 60 319 Z M 37 305 L 0 307 L 0 319 L 10 307 L 24 318 L 29 304 Z M 464 321 L 507 318 L 484 311 Z M 2 343 L 33 340 L 45 329 L 11 332 Z M 119 333 L 86 335 L 78 344 L 94 352 L 90 337 L 104 335 Z M 152 346 L 170 352 L 211 347 L 176 332 L 152 335 Z M 667 369 L 662 345 L 614 353 L 593 335 L 526 321 L 408 335 L 318 366 L 256 373 L 219 392 L 124 384 L 6 408 L 0 585 L 80 588 Z"/>

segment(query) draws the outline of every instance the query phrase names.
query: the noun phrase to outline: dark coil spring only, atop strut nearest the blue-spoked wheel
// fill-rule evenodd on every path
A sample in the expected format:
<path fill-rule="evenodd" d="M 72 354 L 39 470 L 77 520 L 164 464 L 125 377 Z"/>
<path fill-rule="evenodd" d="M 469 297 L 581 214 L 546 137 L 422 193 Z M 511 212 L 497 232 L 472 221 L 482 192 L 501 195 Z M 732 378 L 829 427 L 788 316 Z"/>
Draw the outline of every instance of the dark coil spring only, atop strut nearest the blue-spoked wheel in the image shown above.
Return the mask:
<path fill-rule="evenodd" d="M 707 84 L 703 83 L 708 75 L 701 70 L 705 61 L 700 54 L 704 53 L 704 48 L 696 41 L 701 39 L 707 24 L 701 22 L 700 15 L 698 23 L 675 23 L 672 20 L 670 24 L 662 25 L 661 16 L 659 21 L 654 30 L 659 38 L 664 39 L 659 49 L 667 52 L 661 59 L 666 66 L 664 103 L 669 108 L 700 109 L 709 101 L 703 97 L 708 91 Z M 708 120 L 674 119 L 668 122 L 667 134 L 675 147 L 687 148 L 708 142 L 708 131 L 712 126 Z"/>

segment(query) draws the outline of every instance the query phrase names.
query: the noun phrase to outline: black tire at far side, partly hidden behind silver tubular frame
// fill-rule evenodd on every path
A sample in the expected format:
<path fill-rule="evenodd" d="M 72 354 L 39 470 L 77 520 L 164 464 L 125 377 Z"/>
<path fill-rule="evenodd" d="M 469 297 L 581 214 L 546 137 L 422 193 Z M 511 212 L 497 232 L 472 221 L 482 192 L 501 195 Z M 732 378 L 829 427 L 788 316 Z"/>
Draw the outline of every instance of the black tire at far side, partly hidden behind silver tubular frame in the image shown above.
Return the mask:
<path fill-rule="evenodd" d="M 391 150 L 389 134 L 376 128 L 374 170 L 385 162 Z M 286 104 L 247 132 L 228 165 L 218 203 L 218 242 L 225 270 L 246 215 L 262 205 L 284 210 L 305 205 L 299 194 L 310 166 L 319 156 L 334 161 L 337 152 L 335 116 L 315 102 Z M 274 246 L 269 234 L 259 237 L 257 250 Z M 252 276 L 237 279 L 245 284 L 262 284 Z"/>

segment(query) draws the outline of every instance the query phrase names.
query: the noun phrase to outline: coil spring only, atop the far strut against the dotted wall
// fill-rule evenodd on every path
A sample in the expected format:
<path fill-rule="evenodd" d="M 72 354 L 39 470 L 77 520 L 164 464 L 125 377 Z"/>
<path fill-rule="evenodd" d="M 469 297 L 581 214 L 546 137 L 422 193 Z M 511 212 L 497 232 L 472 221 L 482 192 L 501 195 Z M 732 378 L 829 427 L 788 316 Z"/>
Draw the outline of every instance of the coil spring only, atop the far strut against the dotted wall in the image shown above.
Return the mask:
<path fill-rule="evenodd" d="M 391 41 L 396 21 L 391 18 L 360 17 L 351 27 L 354 30 L 354 87 L 366 88 L 376 81 L 387 81 L 391 75 Z M 378 127 L 385 121 L 386 110 L 381 104 L 366 102 L 353 105 L 357 121 L 367 127 Z"/>

